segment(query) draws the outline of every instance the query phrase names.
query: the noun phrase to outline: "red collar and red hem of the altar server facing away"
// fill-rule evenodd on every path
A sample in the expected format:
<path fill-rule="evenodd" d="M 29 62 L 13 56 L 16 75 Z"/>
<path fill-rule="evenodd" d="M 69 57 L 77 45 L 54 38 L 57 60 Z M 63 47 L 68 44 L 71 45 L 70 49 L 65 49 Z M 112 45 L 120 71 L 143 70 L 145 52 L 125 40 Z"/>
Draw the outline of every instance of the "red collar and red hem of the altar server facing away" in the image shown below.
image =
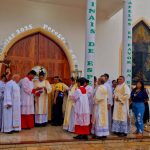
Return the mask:
<path fill-rule="evenodd" d="M 85 87 L 80 87 L 80 90 L 82 94 L 86 94 L 86 89 Z M 89 135 L 90 134 L 90 126 L 80 126 L 80 125 L 75 125 L 75 134 L 78 135 Z"/>

